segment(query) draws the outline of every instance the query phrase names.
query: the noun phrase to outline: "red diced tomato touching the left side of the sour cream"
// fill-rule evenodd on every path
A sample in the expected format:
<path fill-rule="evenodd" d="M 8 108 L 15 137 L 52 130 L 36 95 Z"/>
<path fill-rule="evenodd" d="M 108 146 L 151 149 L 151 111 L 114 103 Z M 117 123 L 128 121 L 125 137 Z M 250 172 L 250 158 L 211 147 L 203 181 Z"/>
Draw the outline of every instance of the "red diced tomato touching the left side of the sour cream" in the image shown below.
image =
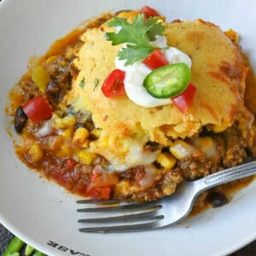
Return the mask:
<path fill-rule="evenodd" d="M 114 69 L 102 85 L 104 96 L 113 97 L 125 95 L 124 79 L 125 72 L 119 69 Z"/>

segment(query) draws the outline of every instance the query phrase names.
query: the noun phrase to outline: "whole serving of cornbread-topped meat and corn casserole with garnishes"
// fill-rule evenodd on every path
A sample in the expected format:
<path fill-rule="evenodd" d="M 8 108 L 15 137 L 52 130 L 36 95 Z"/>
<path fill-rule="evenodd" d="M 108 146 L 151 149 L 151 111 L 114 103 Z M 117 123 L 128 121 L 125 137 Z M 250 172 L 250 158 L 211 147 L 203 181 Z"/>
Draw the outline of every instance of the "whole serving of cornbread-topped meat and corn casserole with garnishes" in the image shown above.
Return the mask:
<path fill-rule="evenodd" d="M 250 67 L 236 32 L 167 23 L 144 7 L 104 15 L 65 42 L 12 90 L 17 153 L 44 177 L 96 200 L 153 201 L 253 158 Z M 214 195 L 224 204 L 221 192 L 198 204 Z"/>

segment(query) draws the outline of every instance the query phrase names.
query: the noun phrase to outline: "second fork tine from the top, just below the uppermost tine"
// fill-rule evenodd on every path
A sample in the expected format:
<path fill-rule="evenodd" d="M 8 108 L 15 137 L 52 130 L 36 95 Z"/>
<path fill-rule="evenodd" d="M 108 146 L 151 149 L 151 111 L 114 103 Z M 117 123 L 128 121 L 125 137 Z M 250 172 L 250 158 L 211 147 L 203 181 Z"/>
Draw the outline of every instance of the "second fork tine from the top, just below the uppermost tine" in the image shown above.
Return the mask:
<path fill-rule="evenodd" d="M 110 206 L 110 207 L 91 207 L 91 208 L 81 208 L 78 209 L 77 212 L 113 212 L 119 210 L 149 210 L 150 208 L 161 208 L 160 204 L 156 204 L 155 202 L 149 203 L 141 203 L 141 204 L 126 204 L 126 205 L 119 205 L 119 206 Z"/>

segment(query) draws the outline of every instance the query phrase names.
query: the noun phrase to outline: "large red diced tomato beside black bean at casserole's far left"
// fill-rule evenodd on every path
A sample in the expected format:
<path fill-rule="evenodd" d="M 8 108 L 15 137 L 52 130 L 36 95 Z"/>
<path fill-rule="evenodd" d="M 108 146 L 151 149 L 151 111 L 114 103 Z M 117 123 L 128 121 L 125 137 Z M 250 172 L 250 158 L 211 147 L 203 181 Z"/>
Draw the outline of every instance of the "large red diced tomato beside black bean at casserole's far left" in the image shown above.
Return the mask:
<path fill-rule="evenodd" d="M 52 107 L 44 96 L 36 96 L 26 102 L 22 109 L 27 117 L 34 123 L 50 119 L 52 116 Z"/>

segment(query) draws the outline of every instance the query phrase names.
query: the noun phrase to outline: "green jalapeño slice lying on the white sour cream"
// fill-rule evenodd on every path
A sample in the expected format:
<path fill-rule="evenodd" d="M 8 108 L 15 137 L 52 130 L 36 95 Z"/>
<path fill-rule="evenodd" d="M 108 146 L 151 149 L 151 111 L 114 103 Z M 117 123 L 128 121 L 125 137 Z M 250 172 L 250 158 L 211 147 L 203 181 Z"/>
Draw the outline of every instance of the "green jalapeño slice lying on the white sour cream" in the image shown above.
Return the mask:
<path fill-rule="evenodd" d="M 143 86 L 155 98 L 177 96 L 189 85 L 191 71 L 185 63 L 175 63 L 154 69 L 144 79 Z"/>

